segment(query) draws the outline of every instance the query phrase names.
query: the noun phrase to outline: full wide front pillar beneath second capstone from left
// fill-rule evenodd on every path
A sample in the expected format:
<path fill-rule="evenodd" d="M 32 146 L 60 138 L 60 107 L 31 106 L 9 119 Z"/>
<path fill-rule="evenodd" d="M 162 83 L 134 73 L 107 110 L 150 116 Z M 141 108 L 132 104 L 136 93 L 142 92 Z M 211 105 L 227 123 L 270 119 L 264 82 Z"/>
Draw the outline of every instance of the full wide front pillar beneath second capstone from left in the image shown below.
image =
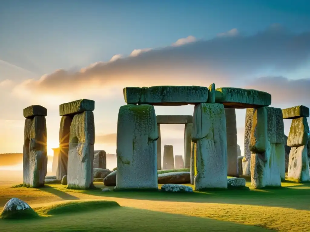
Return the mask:
<path fill-rule="evenodd" d="M 95 122 L 92 111 L 75 114 L 70 126 L 68 187 L 93 186 Z"/>

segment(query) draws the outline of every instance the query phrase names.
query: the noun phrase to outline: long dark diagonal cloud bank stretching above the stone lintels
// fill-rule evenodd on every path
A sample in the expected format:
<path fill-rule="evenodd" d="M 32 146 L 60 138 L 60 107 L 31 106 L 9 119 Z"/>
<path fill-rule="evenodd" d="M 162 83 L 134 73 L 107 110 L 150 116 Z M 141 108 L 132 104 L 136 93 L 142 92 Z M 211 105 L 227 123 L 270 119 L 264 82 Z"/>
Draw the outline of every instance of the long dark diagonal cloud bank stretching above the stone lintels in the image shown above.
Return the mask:
<path fill-rule="evenodd" d="M 235 35 L 236 32 L 233 29 L 226 34 Z M 176 43 L 183 45 L 137 50 L 134 56 L 97 62 L 78 72 L 56 70 L 39 80 L 30 79 L 19 84 L 15 92 L 60 96 L 72 93 L 68 89 L 103 93 L 112 87 L 128 85 L 199 83 L 209 86 L 215 83 L 217 87 L 233 87 L 236 81 L 246 83 L 250 76 L 256 76 L 262 70 L 294 71 L 310 56 L 310 32 L 296 34 L 279 25 L 250 36 L 218 36 L 185 44 L 181 41 Z M 191 41 L 191 38 L 185 41 Z"/>

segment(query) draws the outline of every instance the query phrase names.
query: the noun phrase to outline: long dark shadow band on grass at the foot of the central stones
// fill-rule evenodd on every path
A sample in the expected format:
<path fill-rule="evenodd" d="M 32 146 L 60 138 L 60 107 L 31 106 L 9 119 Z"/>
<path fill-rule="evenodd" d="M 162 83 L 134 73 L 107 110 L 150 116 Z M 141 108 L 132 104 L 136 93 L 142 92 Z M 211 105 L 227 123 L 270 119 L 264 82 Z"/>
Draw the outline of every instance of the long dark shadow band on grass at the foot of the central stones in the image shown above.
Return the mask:
<path fill-rule="evenodd" d="M 219 204 L 246 204 L 259 205 L 268 207 L 294 208 L 300 210 L 309 210 L 310 184 L 301 184 L 292 187 L 265 188 L 261 190 L 250 191 L 233 189 L 233 190 L 208 190 L 204 192 L 193 193 L 165 193 L 156 192 L 140 192 L 140 191 L 113 191 L 113 187 L 109 188 L 110 192 L 102 191 L 83 191 L 88 195 L 117 197 L 124 199 L 136 200 L 155 200 L 155 201 L 176 201 L 176 202 L 197 202 L 197 203 L 219 203 Z M 303 188 L 309 187 L 309 188 Z"/>

